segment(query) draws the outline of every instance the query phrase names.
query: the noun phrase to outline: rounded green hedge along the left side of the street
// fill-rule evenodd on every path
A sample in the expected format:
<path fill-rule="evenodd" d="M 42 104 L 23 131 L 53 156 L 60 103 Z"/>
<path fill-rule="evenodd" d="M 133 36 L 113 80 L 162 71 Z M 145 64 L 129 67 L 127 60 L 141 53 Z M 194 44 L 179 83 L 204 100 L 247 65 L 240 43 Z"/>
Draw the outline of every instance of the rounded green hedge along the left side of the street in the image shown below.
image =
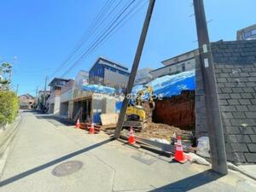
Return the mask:
<path fill-rule="evenodd" d="M 0 90 L 0 125 L 11 123 L 19 110 L 18 96 L 9 90 Z"/>

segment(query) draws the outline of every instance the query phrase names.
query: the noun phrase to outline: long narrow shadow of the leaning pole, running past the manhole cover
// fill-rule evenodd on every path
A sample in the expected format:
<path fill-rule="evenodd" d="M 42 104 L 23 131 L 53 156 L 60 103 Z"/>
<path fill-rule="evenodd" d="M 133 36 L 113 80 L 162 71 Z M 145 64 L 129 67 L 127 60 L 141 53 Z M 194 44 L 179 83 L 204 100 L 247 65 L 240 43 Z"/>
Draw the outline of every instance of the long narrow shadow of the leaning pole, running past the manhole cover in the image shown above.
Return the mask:
<path fill-rule="evenodd" d="M 42 166 L 34 167 L 34 168 L 32 168 L 32 169 L 30 169 L 30 170 L 28 170 L 26 172 L 21 172 L 20 174 L 15 175 L 14 177 L 9 177 L 9 178 L 7 178 L 7 179 L 5 179 L 3 181 L 0 181 L 0 187 L 3 187 L 4 185 L 7 185 L 9 183 L 13 183 L 13 182 L 15 182 L 15 181 L 17 181 L 17 180 L 19 180 L 21 178 L 24 178 L 24 177 L 27 177 L 29 175 L 32 175 L 35 172 L 40 172 L 40 171 L 48 168 L 49 166 L 54 166 L 55 164 L 61 163 L 62 161 L 68 160 L 70 158 L 73 158 L 74 156 L 77 156 L 79 154 L 83 154 L 85 152 L 88 152 L 88 151 L 90 151 L 93 148 L 101 147 L 102 145 L 107 144 L 107 143 L 109 143 L 111 141 L 113 141 L 113 138 L 107 139 L 107 140 L 105 140 L 105 141 L 103 141 L 101 143 L 96 143 L 96 144 L 90 145 L 87 148 L 82 148 L 82 149 L 80 149 L 78 151 L 75 151 L 75 152 L 73 152 L 71 154 L 64 155 L 64 156 L 62 156 L 62 157 L 60 157 L 58 159 L 51 160 L 48 163 L 43 164 Z"/>

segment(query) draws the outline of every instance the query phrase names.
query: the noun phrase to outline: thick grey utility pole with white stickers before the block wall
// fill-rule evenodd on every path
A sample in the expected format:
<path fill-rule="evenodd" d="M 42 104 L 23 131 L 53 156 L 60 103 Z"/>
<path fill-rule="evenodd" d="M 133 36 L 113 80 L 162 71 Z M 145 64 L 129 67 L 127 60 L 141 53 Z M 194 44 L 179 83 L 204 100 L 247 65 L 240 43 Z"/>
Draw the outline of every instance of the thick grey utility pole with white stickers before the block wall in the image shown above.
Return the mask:
<path fill-rule="evenodd" d="M 212 64 L 212 50 L 209 41 L 207 20 L 203 0 L 193 0 L 195 23 L 200 51 L 201 72 L 205 90 L 205 104 L 212 170 L 226 175 L 228 173 L 227 158 L 224 145 L 224 133 L 218 108 L 218 95 Z"/>

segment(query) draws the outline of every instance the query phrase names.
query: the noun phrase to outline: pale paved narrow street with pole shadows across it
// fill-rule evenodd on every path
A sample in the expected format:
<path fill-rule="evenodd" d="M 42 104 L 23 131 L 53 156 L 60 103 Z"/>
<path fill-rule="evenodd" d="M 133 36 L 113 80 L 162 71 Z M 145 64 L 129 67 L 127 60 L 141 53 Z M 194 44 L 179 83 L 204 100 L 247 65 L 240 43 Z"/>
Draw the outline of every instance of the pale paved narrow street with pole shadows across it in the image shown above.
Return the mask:
<path fill-rule="evenodd" d="M 224 177 L 208 166 L 170 159 L 89 135 L 50 116 L 24 111 L 9 148 L 0 191 L 255 191 L 253 180 L 237 172 Z M 52 173 L 61 163 L 79 160 L 81 168 L 66 176 Z M 67 167 L 66 167 L 67 168 Z M 62 170 L 62 173 L 67 170 Z M 61 174 L 61 172 L 60 172 Z"/>

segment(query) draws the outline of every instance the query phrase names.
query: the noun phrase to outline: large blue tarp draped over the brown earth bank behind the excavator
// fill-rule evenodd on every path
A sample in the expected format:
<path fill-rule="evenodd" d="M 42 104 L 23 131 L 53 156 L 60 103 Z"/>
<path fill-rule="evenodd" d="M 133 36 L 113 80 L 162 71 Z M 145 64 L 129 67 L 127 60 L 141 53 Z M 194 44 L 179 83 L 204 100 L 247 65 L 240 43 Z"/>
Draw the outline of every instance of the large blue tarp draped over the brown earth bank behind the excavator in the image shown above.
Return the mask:
<path fill-rule="evenodd" d="M 182 90 L 195 90 L 195 70 L 174 75 L 166 75 L 154 79 L 146 85 L 153 88 L 154 95 L 161 95 L 164 97 L 179 95 Z M 134 86 L 131 92 L 132 94 L 137 94 L 139 90 L 143 90 L 142 84 Z M 147 97 L 146 94 L 144 98 Z"/>

